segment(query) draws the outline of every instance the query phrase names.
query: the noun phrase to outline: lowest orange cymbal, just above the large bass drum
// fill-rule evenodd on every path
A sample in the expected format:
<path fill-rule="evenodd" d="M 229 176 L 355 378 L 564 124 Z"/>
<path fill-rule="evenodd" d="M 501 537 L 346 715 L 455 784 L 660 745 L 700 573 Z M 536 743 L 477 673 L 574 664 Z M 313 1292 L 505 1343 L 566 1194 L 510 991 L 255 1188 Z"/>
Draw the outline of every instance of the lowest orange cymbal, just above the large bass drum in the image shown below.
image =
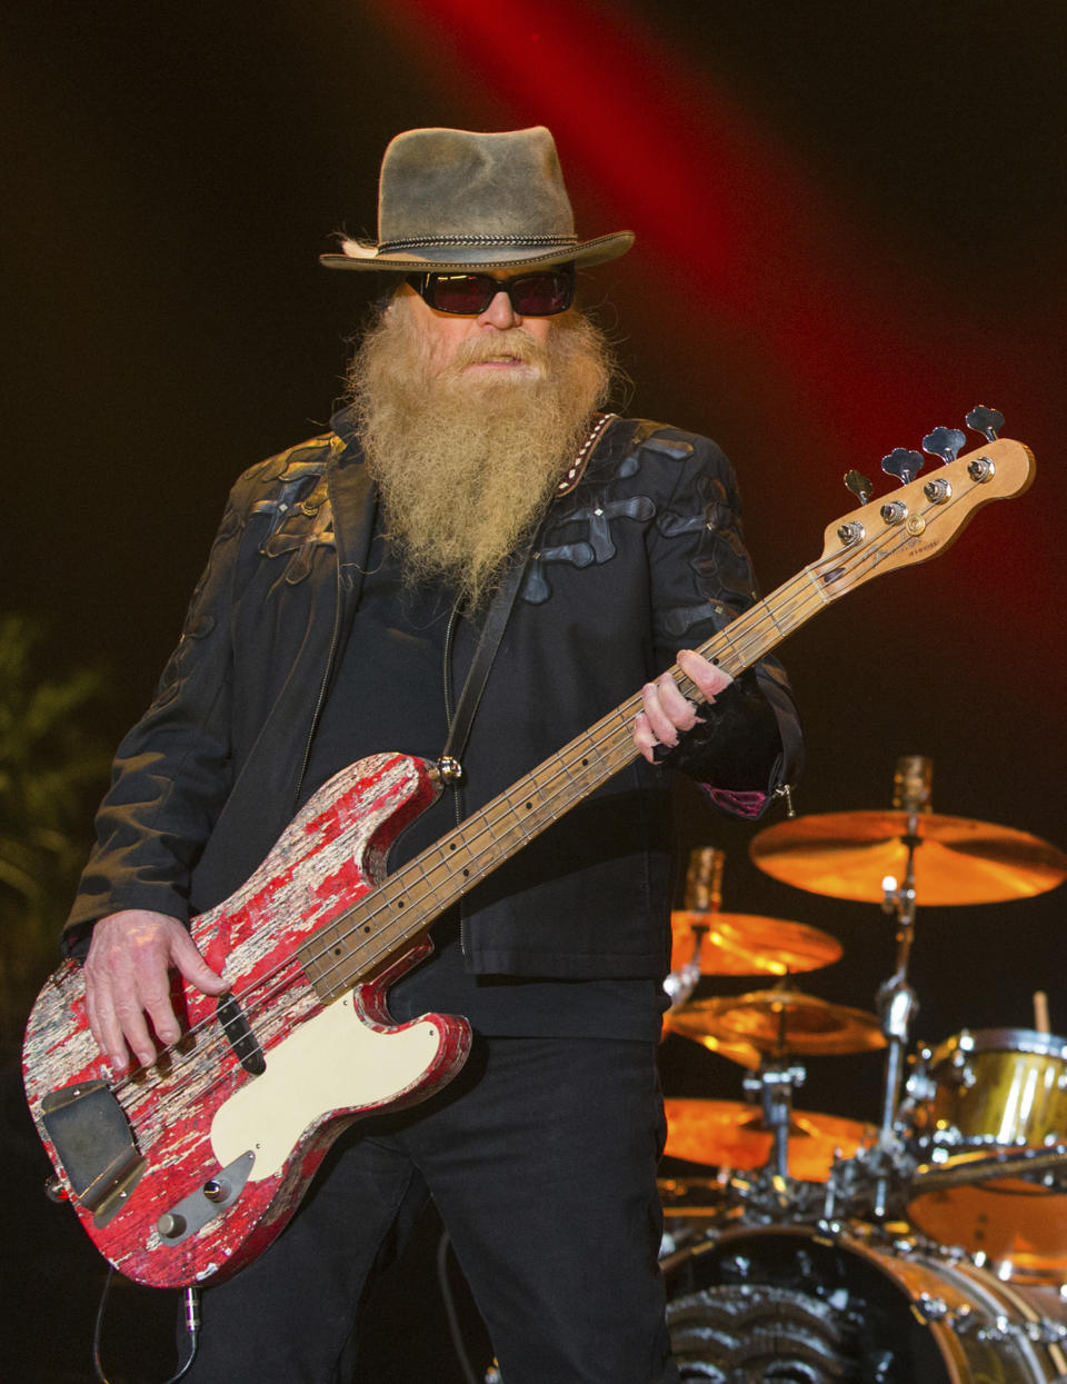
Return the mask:
<path fill-rule="evenodd" d="M 667 1145 L 671 1158 L 713 1167 L 760 1168 L 771 1158 L 772 1135 L 758 1106 L 740 1100 L 667 1099 Z M 837 1116 L 793 1110 L 789 1122 L 789 1175 L 801 1182 L 825 1182 L 833 1154 L 851 1157 L 876 1136 L 873 1125 Z"/>

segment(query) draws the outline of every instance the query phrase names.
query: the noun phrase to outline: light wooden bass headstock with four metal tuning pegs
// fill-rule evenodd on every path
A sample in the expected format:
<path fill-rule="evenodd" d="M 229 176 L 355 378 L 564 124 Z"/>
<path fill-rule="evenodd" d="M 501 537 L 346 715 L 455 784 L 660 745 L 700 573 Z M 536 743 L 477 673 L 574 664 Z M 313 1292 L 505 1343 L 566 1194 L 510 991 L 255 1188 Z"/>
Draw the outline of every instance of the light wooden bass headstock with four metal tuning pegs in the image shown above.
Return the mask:
<path fill-rule="evenodd" d="M 825 599 L 833 601 L 883 572 L 926 562 L 959 537 L 976 509 L 1030 489 L 1034 454 L 1021 441 L 996 437 L 991 419 L 1002 422 L 987 408 L 967 415 L 987 440 L 962 457 L 956 457 L 965 440 L 958 429 L 929 433 L 924 450 L 944 465 L 924 477 L 918 477 L 923 465 L 918 451 L 897 447 L 884 458 L 883 469 L 905 483 L 828 525 L 822 556 L 808 569 Z M 858 472 L 848 472 L 846 484 L 864 500 L 870 494 L 870 483 Z"/>

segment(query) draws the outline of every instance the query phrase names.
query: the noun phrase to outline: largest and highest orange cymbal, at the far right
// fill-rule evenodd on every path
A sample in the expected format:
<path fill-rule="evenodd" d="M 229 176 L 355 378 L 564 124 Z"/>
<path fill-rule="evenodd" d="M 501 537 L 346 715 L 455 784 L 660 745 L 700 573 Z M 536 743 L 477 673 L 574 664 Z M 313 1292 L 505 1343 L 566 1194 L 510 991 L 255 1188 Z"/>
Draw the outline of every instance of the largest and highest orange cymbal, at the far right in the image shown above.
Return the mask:
<path fill-rule="evenodd" d="M 908 822 L 906 812 L 796 817 L 760 832 L 749 854 L 786 884 L 880 904 L 883 880 L 904 879 Z M 1042 894 L 1067 877 L 1067 855 L 1027 832 L 936 812 L 919 812 L 915 822 L 919 904 L 999 904 Z"/>

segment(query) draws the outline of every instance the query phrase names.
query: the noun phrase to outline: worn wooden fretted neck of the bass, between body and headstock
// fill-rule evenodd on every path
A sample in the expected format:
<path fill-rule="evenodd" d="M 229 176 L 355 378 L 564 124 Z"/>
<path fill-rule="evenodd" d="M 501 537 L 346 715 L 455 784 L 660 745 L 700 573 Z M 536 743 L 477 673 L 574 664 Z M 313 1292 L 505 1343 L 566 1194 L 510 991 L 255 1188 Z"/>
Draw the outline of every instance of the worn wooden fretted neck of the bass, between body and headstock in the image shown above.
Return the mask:
<path fill-rule="evenodd" d="M 731 677 L 758 662 L 832 599 L 815 570 L 786 581 L 699 646 Z M 700 693 L 675 664 L 684 696 Z M 300 949 L 316 991 L 334 999 L 407 949 L 435 918 L 637 756 L 635 693 L 526 778 L 390 875 Z"/>

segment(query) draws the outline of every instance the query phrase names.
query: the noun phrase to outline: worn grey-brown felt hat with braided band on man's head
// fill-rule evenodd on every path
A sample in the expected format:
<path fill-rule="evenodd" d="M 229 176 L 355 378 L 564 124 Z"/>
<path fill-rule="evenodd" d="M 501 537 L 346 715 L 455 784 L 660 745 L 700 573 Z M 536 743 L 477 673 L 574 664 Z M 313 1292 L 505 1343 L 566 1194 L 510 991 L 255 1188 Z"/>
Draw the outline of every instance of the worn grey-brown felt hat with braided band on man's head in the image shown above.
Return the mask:
<path fill-rule="evenodd" d="M 632 244 L 632 231 L 578 239 L 544 126 L 504 134 L 428 129 L 397 134 L 385 151 L 378 239 L 343 239 L 342 255 L 320 260 L 394 274 L 525 268 L 598 264 Z"/>

